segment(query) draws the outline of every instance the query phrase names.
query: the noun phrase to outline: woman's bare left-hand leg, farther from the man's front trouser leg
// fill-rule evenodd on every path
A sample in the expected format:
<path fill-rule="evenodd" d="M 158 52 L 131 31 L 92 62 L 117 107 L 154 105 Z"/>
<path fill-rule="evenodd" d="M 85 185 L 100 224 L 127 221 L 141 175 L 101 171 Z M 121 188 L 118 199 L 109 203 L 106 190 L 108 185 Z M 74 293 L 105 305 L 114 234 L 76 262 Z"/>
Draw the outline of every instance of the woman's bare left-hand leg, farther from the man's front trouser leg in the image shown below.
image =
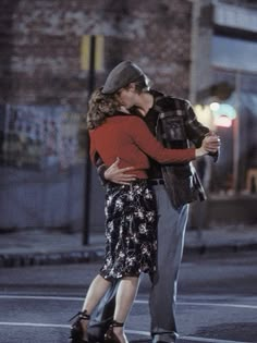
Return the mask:
<path fill-rule="evenodd" d="M 111 282 L 105 280 L 101 275 L 97 275 L 90 283 L 87 291 L 82 311 L 87 313 L 90 316 L 97 304 L 100 302 L 107 290 L 110 287 Z M 87 340 L 87 326 L 88 320 L 82 320 L 84 340 Z"/>

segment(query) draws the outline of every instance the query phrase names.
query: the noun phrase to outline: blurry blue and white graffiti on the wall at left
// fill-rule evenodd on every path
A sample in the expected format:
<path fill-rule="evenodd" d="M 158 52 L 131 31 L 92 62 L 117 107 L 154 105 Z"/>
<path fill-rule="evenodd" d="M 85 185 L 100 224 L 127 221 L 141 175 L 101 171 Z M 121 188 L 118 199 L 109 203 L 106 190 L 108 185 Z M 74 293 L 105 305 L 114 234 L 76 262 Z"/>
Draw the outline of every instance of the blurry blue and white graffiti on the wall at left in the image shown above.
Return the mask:
<path fill-rule="evenodd" d="M 1 164 L 68 169 L 82 162 L 81 115 L 64 107 L 1 107 Z"/>

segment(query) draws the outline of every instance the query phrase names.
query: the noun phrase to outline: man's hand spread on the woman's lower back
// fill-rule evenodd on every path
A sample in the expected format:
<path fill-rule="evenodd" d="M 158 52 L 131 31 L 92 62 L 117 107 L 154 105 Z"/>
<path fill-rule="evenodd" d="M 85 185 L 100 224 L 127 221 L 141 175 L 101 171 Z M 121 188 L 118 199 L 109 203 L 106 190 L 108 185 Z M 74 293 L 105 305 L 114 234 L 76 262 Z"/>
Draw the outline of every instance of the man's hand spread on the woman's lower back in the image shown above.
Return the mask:
<path fill-rule="evenodd" d="M 118 167 L 120 162 L 120 158 L 118 157 L 115 162 L 112 163 L 106 171 L 105 171 L 105 179 L 111 181 L 113 183 L 128 185 L 131 181 L 136 180 L 136 175 L 134 174 L 125 174 L 125 172 L 130 170 L 134 170 L 134 167 L 126 167 L 120 169 Z"/>

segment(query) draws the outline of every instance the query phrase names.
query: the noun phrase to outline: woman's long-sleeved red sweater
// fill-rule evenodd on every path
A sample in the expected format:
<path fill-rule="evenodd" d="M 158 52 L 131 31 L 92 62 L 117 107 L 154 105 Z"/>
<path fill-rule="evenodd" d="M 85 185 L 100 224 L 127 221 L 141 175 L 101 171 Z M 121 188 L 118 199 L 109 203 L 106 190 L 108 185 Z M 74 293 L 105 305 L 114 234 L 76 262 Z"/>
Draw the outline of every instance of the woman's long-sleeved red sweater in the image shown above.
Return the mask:
<path fill-rule="evenodd" d="M 145 122 L 135 115 L 114 115 L 89 131 L 90 158 L 95 162 L 98 152 L 107 167 L 117 157 L 119 168 L 134 167 L 133 174 L 147 179 L 148 156 L 159 163 L 181 163 L 195 159 L 195 149 L 167 149 L 154 137 Z"/>

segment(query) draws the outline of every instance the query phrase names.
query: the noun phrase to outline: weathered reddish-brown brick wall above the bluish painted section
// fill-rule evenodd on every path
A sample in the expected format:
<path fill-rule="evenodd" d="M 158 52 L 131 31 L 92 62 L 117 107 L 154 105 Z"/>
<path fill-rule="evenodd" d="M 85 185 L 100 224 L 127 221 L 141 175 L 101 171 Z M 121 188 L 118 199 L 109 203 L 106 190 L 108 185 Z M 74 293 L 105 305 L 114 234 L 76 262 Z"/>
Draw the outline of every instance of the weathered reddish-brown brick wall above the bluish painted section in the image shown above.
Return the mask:
<path fill-rule="evenodd" d="M 159 89 L 188 97 L 191 7 L 187 0 L 1 0 L 0 102 L 83 110 L 83 35 L 105 36 L 96 86 L 115 63 L 131 59 Z"/>

